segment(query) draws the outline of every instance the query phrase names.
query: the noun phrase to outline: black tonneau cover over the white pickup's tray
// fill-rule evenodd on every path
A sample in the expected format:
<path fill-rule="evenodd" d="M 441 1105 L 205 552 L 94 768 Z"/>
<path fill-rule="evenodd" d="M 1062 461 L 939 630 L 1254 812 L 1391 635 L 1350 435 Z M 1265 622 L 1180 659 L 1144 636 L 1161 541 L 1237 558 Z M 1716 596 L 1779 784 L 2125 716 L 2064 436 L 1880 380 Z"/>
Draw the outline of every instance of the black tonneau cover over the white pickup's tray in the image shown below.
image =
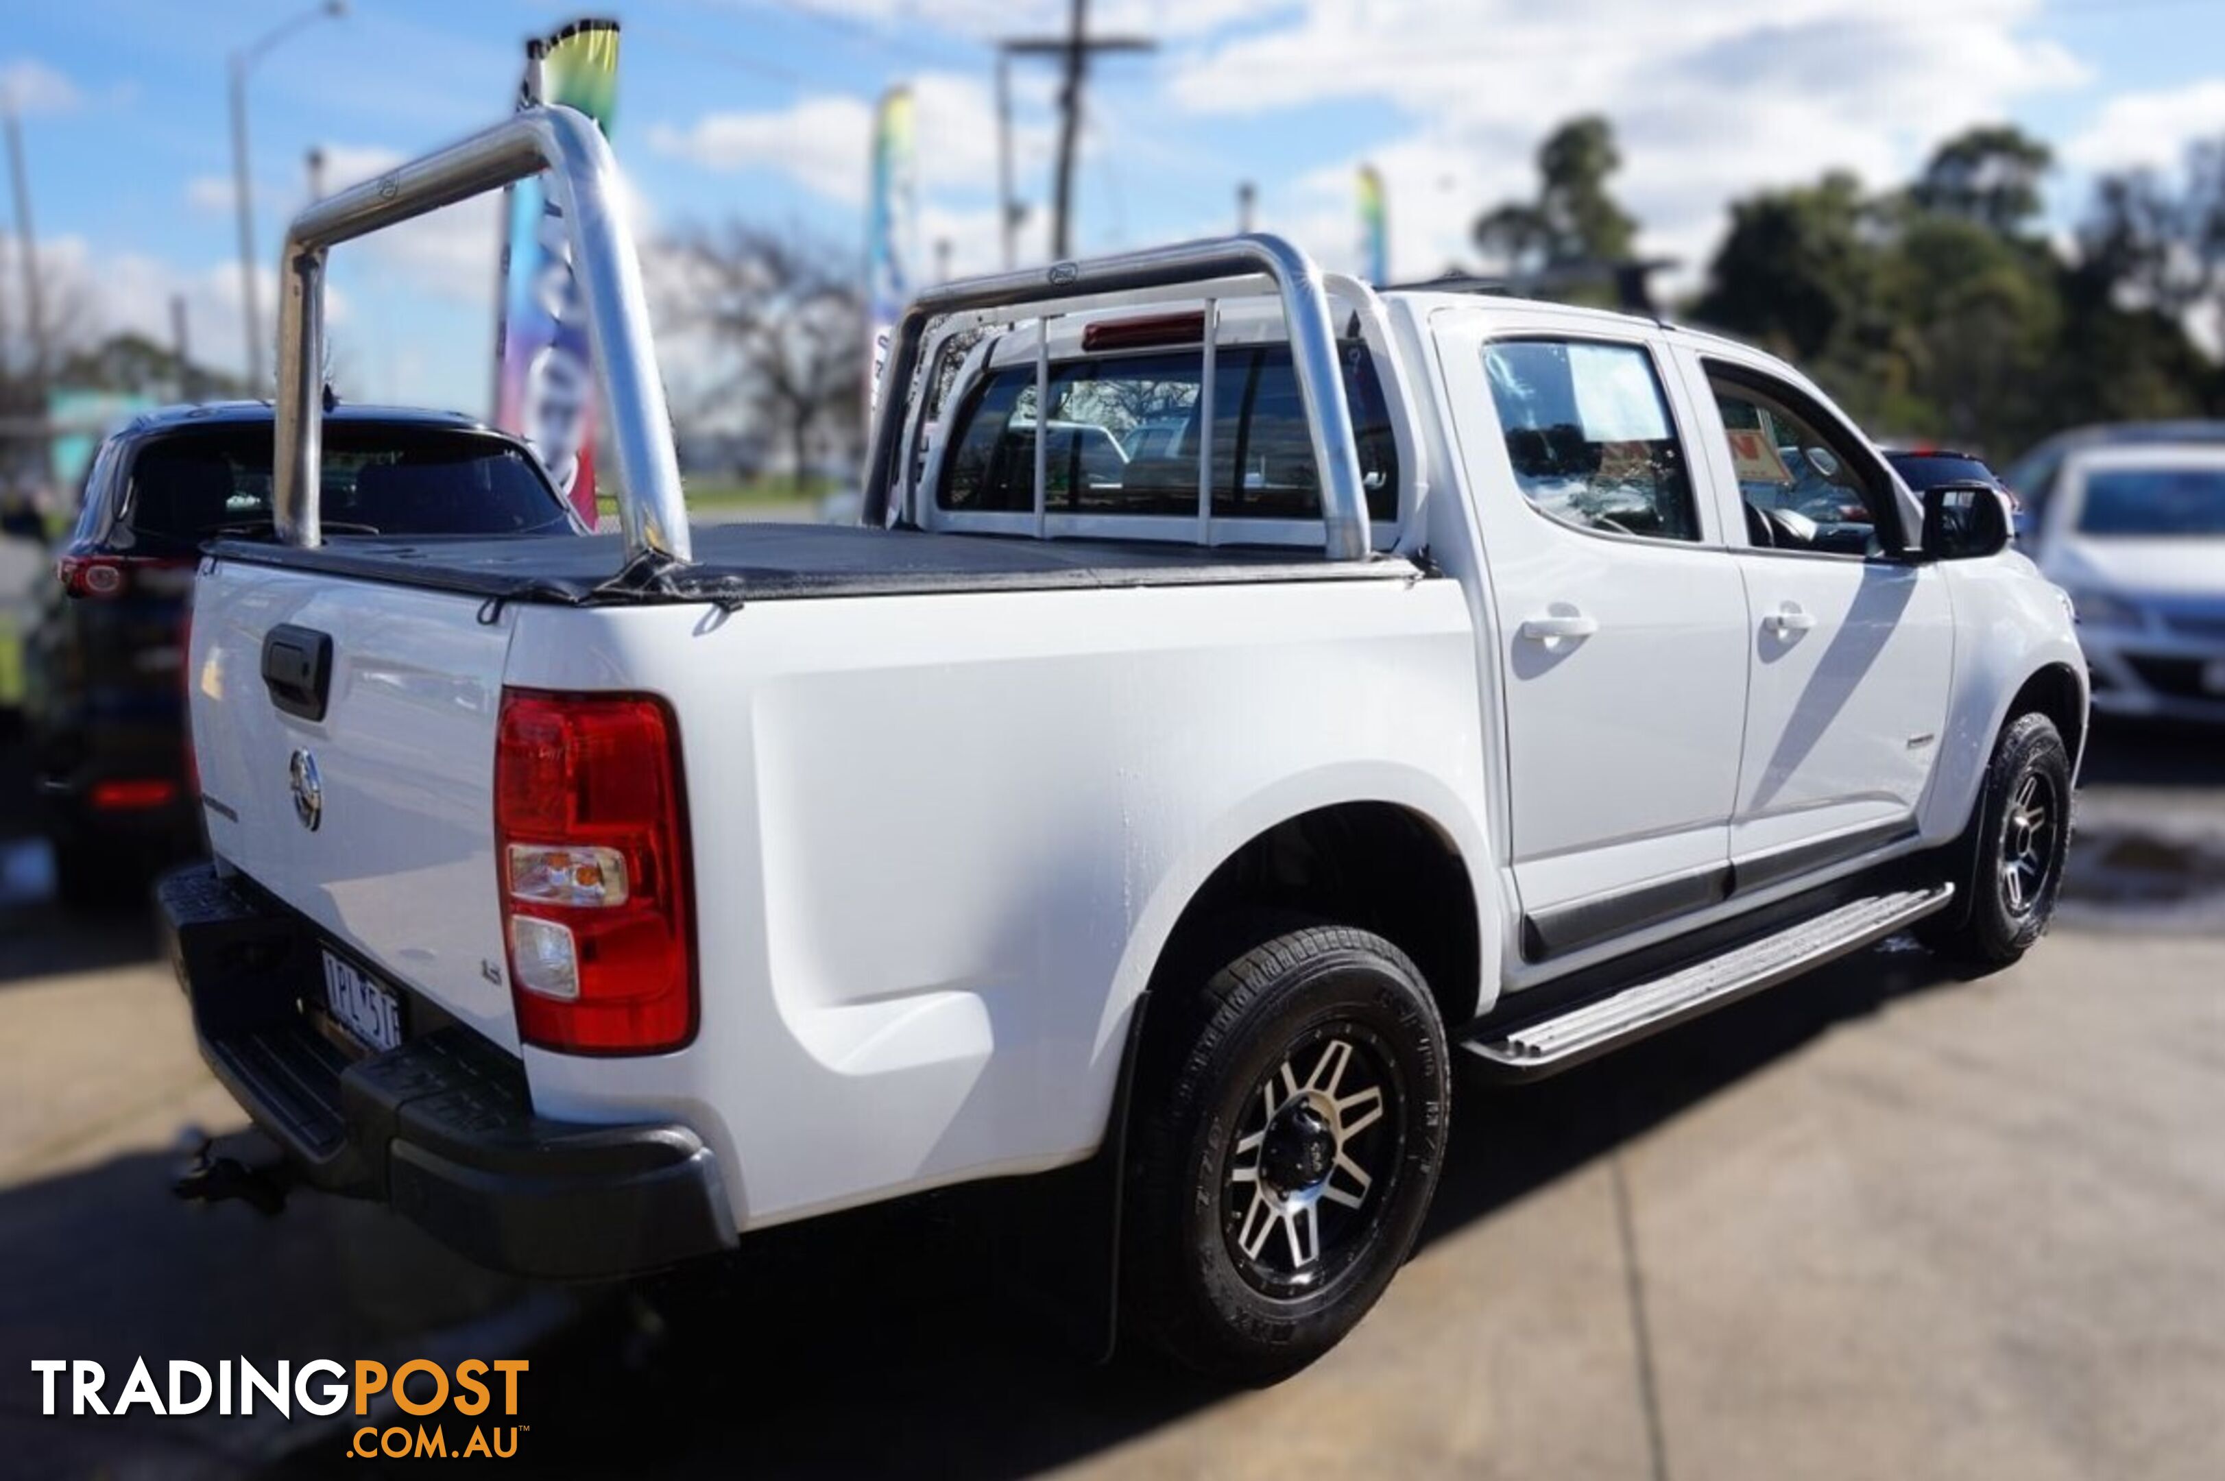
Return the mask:
<path fill-rule="evenodd" d="M 218 540 L 216 560 L 327 571 L 492 600 L 619 603 L 783 600 L 919 592 L 1226 585 L 1255 580 L 1413 578 L 1413 563 L 1324 560 L 1288 547 L 1035 540 L 859 525 L 696 525 L 694 563 L 619 571 L 623 545 L 599 536 L 329 536 L 316 549 Z"/>

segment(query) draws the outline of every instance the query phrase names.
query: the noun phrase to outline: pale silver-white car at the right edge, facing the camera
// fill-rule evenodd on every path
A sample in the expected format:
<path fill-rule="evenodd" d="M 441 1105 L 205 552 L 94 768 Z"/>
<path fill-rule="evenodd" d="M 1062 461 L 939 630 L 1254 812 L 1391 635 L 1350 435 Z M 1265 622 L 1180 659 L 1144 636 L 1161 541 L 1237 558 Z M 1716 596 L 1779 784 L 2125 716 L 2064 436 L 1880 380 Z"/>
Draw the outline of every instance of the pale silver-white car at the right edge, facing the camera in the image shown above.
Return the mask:
<path fill-rule="evenodd" d="M 2078 609 L 2096 709 L 2225 720 L 2225 443 L 2069 451 L 2040 569 Z"/>

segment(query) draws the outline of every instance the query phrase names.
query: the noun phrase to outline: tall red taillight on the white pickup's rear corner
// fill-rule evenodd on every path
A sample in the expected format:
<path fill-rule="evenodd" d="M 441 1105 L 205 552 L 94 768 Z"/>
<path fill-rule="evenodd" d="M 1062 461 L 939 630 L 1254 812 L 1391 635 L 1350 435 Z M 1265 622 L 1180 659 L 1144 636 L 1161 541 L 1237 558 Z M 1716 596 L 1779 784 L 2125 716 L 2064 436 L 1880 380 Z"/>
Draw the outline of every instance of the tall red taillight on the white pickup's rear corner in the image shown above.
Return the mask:
<path fill-rule="evenodd" d="M 654 1054 L 694 1038 L 688 803 L 661 698 L 503 689 L 494 867 L 525 1043 Z"/>

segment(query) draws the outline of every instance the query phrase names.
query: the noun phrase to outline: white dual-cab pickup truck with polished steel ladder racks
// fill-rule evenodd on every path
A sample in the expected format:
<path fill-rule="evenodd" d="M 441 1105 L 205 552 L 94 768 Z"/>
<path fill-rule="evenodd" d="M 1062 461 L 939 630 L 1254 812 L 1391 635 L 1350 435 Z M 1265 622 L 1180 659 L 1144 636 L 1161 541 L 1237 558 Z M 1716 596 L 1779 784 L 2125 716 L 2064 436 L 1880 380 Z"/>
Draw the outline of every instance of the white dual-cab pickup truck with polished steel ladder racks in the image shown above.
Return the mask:
<path fill-rule="evenodd" d="M 325 251 L 536 169 L 623 534 L 323 538 Z M 601 1276 L 1101 1167 L 1124 1330 L 1264 1379 L 1406 1256 L 1453 1052 L 2049 918 L 2065 600 L 1769 356 L 1270 236 L 1059 262 L 908 309 L 859 527 L 692 531 L 610 207 L 552 107 L 285 247 L 285 543 L 202 560 L 160 894 L 316 1185 Z"/>

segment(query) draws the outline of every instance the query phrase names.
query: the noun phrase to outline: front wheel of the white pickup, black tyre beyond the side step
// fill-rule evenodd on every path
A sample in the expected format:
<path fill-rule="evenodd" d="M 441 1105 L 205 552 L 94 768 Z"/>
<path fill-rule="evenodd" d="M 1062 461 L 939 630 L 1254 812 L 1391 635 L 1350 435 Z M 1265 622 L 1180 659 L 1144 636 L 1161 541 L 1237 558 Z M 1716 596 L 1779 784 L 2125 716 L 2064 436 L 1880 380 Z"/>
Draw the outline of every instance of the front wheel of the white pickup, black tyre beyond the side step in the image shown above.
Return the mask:
<path fill-rule="evenodd" d="M 2069 847 L 2069 747 L 2045 714 L 2016 716 L 1994 745 L 1971 832 L 1951 854 L 1969 901 L 1925 921 L 1918 938 L 1954 961 L 2007 967 L 2047 930 Z"/>

